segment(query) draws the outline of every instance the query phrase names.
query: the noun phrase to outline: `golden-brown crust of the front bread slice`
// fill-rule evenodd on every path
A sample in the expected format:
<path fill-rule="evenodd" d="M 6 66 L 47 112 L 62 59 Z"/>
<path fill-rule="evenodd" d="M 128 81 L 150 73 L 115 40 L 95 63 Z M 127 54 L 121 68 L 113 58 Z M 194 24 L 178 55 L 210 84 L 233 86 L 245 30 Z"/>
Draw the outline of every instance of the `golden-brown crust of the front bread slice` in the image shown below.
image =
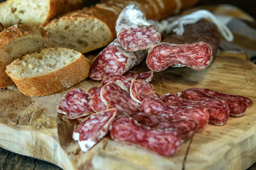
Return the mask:
<path fill-rule="evenodd" d="M 58 48 L 56 47 L 55 49 Z M 15 64 L 18 61 L 19 59 L 13 63 Z M 26 96 L 47 96 L 63 91 L 86 79 L 89 71 L 90 63 L 82 53 L 80 53 L 80 57 L 77 60 L 65 67 L 37 77 L 15 77 L 12 74 L 11 67 L 6 67 L 6 73 L 14 81 L 21 93 Z"/>

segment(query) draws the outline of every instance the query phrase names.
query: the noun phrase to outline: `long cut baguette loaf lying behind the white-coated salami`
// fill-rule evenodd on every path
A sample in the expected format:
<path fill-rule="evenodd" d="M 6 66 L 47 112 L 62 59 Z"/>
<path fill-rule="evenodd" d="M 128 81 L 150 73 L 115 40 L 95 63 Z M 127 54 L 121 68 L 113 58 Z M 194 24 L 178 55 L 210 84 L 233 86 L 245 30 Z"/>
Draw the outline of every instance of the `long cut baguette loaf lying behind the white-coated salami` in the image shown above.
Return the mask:
<path fill-rule="evenodd" d="M 136 4 L 148 19 L 161 20 L 198 0 L 107 0 L 56 18 L 43 25 L 55 47 L 68 47 L 82 53 L 108 45 L 116 37 L 115 24 L 119 13 L 129 4 Z"/>

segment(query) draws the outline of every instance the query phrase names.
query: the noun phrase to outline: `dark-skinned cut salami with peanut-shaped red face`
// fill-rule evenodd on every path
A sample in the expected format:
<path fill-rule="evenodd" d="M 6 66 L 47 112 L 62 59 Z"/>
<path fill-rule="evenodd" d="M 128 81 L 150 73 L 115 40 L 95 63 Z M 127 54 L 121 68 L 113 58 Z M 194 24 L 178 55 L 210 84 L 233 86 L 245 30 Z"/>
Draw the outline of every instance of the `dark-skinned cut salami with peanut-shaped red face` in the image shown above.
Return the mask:
<path fill-rule="evenodd" d="M 154 45 L 146 57 L 146 64 L 154 72 L 168 67 L 206 69 L 217 54 L 220 35 L 214 23 L 198 21 L 184 27 L 183 35 L 168 35 Z"/>

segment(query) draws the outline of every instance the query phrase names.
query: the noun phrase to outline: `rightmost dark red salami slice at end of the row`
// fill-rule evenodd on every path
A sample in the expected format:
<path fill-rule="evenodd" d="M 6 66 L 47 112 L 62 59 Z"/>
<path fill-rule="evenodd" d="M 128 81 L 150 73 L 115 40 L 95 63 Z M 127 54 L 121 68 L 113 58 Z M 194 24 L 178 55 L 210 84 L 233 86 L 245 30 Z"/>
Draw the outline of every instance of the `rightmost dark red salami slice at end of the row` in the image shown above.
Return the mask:
<path fill-rule="evenodd" d="M 240 117 L 242 115 L 245 115 L 245 112 L 247 111 L 248 105 L 244 98 L 241 98 L 240 96 L 228 96 L 224 97 L 218 97 L 218 96 L 212 96 L 210 93 L 205 94 L 203 92 L 203 89 L 198 88 L 191 88 L 191 89 L 185 89 L 179 93 L 182 98 L 186 98 L 188 100 L 192 101 L 203 101 L 206 99 L 221 99 L 227 103 L 228 107 L 230 108 L 230 116 L 233 117 Z"/>

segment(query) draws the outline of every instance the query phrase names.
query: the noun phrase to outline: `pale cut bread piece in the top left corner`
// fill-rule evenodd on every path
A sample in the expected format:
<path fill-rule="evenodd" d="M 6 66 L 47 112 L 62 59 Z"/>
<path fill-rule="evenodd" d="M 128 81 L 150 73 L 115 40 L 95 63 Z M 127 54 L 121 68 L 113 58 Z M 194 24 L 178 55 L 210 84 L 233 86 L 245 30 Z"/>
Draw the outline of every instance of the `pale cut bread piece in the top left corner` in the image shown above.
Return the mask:
<path fill-rule="evenodd" d="M 40 26 L 78 8 L 82 8 L 82 0 L 7 0 L 0 4 L 0 21 L 4 28 L 17 23 Z"/>

